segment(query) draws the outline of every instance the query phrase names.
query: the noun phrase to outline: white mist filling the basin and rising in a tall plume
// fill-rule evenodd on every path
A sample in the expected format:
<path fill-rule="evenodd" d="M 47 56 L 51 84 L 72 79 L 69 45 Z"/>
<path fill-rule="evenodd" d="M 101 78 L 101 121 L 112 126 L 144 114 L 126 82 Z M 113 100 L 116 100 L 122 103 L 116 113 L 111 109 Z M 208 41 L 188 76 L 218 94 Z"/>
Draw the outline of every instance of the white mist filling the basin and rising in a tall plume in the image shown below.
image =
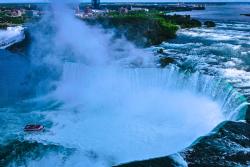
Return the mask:
<path fill-rule="evenodd" d="M 27 139 L 76 152 L 67 159 L 48 154 L 29 166 L 109 167 L 165 156 L 187 147 L 223 120 L 214 101 L 169 87 L 175 78 L 146 69 L 138 75 L 134 69 L 124 69 L 131 63 L 152 66 L 152 54 L 89 27 L 64 6 L 55 4 L 54 12 L 53 56 L 44 60 L 62 68 L 51 96 L 63 105 L 44 112 L 53 123 L 49 133 Z"/>

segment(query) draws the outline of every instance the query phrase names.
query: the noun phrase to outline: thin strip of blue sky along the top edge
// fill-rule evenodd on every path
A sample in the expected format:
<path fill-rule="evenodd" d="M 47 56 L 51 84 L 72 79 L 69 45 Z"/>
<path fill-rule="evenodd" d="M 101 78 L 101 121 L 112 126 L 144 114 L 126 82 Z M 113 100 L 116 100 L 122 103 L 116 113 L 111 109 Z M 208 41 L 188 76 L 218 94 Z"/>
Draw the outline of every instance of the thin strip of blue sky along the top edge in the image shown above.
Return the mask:
<path fill-rule="evenodd" d="M 0 0 L 0 2 L 47 2 L 49 0 Z M 76 0 L 90 2 L 91 0 Z M 101 0 L 103 2 L 250 2 L 250 0 Z"/>

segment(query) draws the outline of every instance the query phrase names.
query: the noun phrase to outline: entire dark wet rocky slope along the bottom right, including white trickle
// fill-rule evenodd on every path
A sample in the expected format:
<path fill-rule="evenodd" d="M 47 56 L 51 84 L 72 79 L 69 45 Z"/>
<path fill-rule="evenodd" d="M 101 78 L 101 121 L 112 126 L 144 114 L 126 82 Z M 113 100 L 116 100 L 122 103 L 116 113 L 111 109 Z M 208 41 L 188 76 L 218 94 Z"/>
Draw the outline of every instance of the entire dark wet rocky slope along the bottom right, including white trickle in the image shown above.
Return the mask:
<path fill-rule="evenodd" d="M 180 155 L 183 159 L 176 158 L 176 155 Z M 245 122 L 226 121 L 178 154 L 122 164 L 117 167 L 163 166 L 250 166 L 250 125 Z"/>

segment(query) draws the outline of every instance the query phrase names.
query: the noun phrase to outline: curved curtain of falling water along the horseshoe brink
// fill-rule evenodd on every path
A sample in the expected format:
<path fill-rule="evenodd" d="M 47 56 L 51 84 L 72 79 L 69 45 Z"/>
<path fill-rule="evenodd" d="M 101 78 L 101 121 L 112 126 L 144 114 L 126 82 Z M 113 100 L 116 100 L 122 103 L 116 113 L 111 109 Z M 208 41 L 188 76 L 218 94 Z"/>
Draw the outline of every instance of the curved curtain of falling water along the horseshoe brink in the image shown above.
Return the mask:
<path fill-rule="evenodd" d="M 63 83 L 74 82 L 82 84 L 89 80 L 84 78 L 84 73 L 96 76 L 100 71 L 115 73 L 114 76 L 128 78 L 130 82 L 125 89 L 133 92 L 140 86 L 159 87 L 176 91 L 189 91 L 198 95 L 206 96 L 219 104 L 220 110 L 227 120 L 244 119 L 247 110 L 247 99 L 222 78 L 204 75 L 199 72 L 186 73 L 172 65 L 168 68 L 105 68 L 91 69 L 82 64 L 66 63 L 64 65 Z M 121 81 L 124 82 L 124 81 Z"/>

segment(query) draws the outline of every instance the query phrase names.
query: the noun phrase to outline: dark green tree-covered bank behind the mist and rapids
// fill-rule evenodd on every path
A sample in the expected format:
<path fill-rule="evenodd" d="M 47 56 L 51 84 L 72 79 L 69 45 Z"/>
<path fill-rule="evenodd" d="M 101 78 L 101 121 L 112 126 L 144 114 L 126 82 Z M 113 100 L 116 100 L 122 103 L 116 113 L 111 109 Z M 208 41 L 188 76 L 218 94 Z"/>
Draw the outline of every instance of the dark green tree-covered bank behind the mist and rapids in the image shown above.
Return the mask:
<path fill-rule="evenodd" d="M 166 16 L 159 11 L 136 11 L 127 14 L 114 12 L 108 16 L 84 20 L 89 24 L 101 24 L 107 29 L 114 28 L 116 36 L 125 36 L 142 47 L 158 45 L 175 38 L 179 26 L 185 28 L 201 26 L 199 21 L 190 19 L 189 16 Z"/>

